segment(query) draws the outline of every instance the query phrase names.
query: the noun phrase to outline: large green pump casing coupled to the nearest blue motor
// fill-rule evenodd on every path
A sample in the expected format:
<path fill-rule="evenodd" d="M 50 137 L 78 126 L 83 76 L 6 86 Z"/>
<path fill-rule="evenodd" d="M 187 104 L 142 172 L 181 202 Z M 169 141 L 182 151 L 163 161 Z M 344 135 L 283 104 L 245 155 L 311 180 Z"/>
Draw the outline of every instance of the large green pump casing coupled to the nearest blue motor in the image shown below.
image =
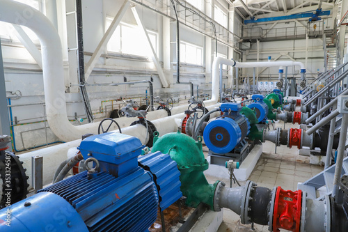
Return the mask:
<path fill-rule="evenodd" d="M 179 131 L 164 134 L 162 137 L 158 135 L 157 132 L 152 153 L 156 151 L 167 153 L 177 162 L 181 191 L 187 197 L 186 204 L 196 208 L 200 202 L 203 202 L 214 210 L 214 192 L 219 181 L 211 185 L 204 176 L 203 171 L 208 169 L 209 164 L 203 154 L 202 138 L 198 137 L 198 141 L 195 141 Z"/>

